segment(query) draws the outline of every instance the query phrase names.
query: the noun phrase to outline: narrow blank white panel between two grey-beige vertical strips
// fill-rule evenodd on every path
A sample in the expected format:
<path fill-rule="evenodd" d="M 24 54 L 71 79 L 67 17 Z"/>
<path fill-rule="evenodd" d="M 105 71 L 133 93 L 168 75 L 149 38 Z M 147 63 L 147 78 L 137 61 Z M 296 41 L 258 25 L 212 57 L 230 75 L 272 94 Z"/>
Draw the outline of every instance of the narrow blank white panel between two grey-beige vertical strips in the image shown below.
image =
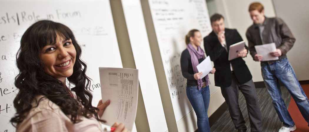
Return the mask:
<path fill-rule="evenodd" d="M 142 92 L 143 95 L 142 97 L 148 120 L 147 125 L 149 125 L 150 131 L 165 132 L 167 131 L 167 123 L 151 56 L 141 1 L 122 0 L 121 3 L 135 66 L 139 70 L 140 92 Z"/>

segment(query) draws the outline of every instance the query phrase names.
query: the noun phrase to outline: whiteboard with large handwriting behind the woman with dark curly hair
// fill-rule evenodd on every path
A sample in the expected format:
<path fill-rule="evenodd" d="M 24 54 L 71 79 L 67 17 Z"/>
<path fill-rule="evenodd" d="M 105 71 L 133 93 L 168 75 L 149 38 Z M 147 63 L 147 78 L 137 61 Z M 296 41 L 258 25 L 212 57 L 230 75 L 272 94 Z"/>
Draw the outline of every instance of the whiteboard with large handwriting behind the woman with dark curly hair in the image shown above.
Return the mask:
<path fill-rule="evenodd" d="M 68 26 L 82 48 L 87 75 L 92 79 L 93 106 L 101 99 L 99 68 L 122 67 L 109 0 L 1 0 L 0 2 L 0 132 L 15 131 L 9 120 L 15 114 L 14 78 L 20 38 L 34 22 L 49 19 Z M 3 18 L 3 19 L 2 19 Z"/>

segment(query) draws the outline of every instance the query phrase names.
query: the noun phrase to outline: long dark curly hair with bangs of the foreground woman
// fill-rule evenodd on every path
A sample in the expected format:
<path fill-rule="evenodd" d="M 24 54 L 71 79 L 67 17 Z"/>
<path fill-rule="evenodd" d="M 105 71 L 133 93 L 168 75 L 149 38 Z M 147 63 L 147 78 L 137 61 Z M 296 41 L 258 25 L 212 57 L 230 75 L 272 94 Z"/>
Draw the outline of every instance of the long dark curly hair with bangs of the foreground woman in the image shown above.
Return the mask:
<path fill-rule="evenodd" d="M 41 49 L 48 44 L 56 43 L 57 34 L 66 40 L 71 39 L 76 50 L 73 74 L 67 78 L 75 86 L 71 90 L 75 92 L 76 99 L 71 96 L 63 82 L 44 72 L 44 62 L 40 59 Z M 64 114 L 70 115 L 73 123 L 81 121 L 78 116 L 86 118 L 94 116 L 98 121 L 105 122 L 99 119 L 96 113 L 98 109 L 91 105 L 92 94 L 87 90 L 90 78 L 85 74 L 87 66 L 80 59 L 81 53 L 82 50 L 73 32 L 61 23 L 43 20 L 34 23 L 26 30 L 16 54 L 19 74 L 15 77 L 15 86 L 19 89 L 19 93 L 14 99 L 16 114 L 11 118 L 14 126 L 26 118 L 32 108 L 31 102 L 38 95 L 43 95 L 44 98 L 57 104 Z"/>

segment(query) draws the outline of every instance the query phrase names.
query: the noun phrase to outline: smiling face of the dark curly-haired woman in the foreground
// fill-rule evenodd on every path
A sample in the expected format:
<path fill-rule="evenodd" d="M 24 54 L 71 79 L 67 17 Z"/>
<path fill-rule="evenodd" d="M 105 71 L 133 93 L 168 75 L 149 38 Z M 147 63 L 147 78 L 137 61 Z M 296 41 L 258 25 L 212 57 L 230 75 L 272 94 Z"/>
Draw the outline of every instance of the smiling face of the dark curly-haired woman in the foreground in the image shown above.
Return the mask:
<path fill-rule="evenodd" d="M 45 63 L 44 71 L 47 74 L 65 82 L 73 74 L 76 50 L 71 39 L 65 40 L 57 34 L 56 43 L 43 47 L 40 58 Z"/>

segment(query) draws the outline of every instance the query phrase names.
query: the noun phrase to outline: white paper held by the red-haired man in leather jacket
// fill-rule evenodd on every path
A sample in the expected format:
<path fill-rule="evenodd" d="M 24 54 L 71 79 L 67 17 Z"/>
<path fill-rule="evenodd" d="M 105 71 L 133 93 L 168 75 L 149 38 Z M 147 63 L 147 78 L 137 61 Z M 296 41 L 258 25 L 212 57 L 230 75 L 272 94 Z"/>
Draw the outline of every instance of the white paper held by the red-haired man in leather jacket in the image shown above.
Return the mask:
<path fill-rule="evenodd" d="M 276 51 L 275 43 L 263 44 L 263 45 L 256 45 L 254 46 L 256 53 L 258 55 L 262 55 L 263 59 L 261 61 L 271 61 L 271 60 L 278 60 L 279 57 L 273 57 L 270 55 L 270 52 Z"/>

